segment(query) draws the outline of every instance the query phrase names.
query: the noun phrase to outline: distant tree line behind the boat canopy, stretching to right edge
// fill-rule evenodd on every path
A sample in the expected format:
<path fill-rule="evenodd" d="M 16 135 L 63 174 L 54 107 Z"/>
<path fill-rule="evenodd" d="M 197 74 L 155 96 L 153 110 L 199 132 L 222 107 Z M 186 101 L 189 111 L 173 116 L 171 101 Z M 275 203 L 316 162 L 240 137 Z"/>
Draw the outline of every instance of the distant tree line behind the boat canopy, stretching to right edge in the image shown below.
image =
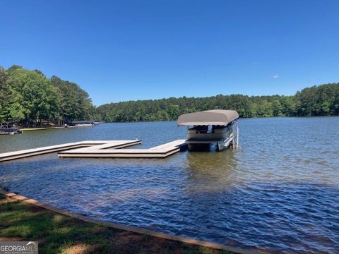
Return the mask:
<path fill-rule="evenodd" d="M 233 109 L 240 117 L 329 116 L 339 114 L 339 83 L 313 86 L 293 96 L 216 95 L 104 104 L 97 114 L 107 122 L 171 121 L 180 114 Z"/>

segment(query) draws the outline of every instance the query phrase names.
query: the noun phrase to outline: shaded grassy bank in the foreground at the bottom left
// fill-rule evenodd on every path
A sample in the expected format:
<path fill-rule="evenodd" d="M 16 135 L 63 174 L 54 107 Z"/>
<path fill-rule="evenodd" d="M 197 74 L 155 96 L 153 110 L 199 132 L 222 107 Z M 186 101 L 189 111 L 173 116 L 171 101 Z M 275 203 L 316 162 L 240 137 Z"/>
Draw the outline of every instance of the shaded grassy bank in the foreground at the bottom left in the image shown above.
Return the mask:
<path fill-rule="evenodd" d="M 83 222 L 2 194 L 0 241 L 39 241 L 39 253 L 230 253 Z"/>

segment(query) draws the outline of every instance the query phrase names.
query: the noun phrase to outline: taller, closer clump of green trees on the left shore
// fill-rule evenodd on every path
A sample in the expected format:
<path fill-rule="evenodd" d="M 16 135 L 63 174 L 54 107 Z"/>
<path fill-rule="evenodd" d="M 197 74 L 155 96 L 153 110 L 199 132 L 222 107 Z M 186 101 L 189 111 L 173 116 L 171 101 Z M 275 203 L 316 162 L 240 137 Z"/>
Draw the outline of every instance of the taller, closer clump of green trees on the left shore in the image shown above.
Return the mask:
<path fill-rule="evenodd" d="M 63 124 L 93 117 L 95 107 L 76 83 L 17 65 L 0 66 L 0 122 L 36 126 L 43 121 Z"/>

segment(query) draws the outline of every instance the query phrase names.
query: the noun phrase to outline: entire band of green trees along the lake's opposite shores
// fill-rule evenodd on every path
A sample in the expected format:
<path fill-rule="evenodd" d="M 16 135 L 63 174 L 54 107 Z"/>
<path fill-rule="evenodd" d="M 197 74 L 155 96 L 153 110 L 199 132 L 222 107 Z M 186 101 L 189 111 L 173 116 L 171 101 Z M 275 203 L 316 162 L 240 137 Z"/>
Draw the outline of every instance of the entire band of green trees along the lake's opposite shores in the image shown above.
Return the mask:
<path fill-rule="evenodd" d="M 93 103 L 76 83 L 39 70 L 0 66 L 0 122 L 20 125 L 69 123 L 97 119 L 106 122 L 171 121 L 180 114 L 208 109 L 234 109 L 240 117 L 329 116 L 339 114 L 339 83 L 304 88 L 293 96 L 216 95 L 104 104 Z"/>

